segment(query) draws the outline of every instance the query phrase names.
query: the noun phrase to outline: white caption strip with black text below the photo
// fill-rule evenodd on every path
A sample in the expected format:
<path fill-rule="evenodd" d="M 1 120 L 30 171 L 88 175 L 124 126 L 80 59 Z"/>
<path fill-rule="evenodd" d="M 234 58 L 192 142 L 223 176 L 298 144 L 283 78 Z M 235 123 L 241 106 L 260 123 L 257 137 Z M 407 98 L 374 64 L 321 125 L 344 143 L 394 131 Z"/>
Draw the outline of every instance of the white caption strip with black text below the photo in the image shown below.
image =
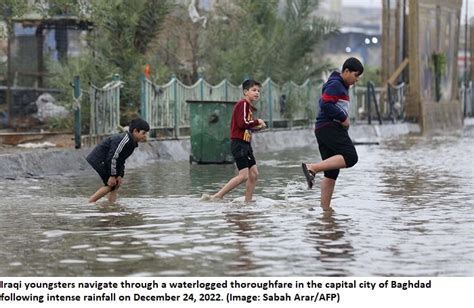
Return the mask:
<path fill-rule="evenodd" d="M 0 277 L 0 306 L 459 308 L 472 290 L 472 277 Z"/>

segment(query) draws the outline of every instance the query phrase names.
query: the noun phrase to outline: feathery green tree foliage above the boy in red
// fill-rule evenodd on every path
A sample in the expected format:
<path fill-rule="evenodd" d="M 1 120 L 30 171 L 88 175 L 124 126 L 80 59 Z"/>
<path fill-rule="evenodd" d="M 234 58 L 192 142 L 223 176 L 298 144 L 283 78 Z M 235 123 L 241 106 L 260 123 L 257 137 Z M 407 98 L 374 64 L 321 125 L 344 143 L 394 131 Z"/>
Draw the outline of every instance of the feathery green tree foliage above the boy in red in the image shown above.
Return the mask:
<path fill-rule="evenodd" d="M 276 82 L 301 82 L 327 68 L 316 62 L 318 44 L 337 29 L 334 24 L 310 17 L 316 0 L 242 0 L 232 11 L 222 10 L 212 19 L 203 42 L 205 76 L 217 82 L 228 78 L 241 83 L 244 76 Z"/>

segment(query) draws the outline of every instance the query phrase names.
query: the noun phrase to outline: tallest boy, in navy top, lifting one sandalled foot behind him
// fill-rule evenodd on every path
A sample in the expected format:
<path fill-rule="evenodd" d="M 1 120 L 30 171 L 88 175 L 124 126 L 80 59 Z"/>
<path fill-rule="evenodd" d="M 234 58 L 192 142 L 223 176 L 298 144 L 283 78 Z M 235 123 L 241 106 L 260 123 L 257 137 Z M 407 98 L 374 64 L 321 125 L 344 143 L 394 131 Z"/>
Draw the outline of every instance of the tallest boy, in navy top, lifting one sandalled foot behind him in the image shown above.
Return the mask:
<path fill-rule="evenodd" d="M 321 180 L 323 210 L 332 210 L 331 199 L 339 169 L 352 167 L 358 160 L 356 149 L 348 134 L 349 87 L 359 80 L 363 72 L 362 63 L 356 58 L 349 58 L 344 62 L 342 71 L 333 72 L 323 85 L 315 128 L 322 161 L 301 164 L 310 189 L 313 187 L 314 176 L 324 172 Z"/>

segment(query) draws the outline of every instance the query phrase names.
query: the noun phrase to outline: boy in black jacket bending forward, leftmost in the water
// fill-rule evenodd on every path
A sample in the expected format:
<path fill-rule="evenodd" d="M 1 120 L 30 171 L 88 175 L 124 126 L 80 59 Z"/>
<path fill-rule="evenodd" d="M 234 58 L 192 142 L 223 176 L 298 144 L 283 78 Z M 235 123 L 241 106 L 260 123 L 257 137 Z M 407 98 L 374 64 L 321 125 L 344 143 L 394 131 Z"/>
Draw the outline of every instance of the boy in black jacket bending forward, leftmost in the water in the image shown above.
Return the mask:
<path fill-rule="evenodd" d="M 117 200 L 117 190 L 122 184 L 125 172 L 125 160 L 132 155 L 138 142 L 146 141 L 150 125 L 145 120 L 134 119 L 130 122 L 129 131 L 107 137 L 87 156 L 87 162 L 97 171 L 103 187 L 99 188 L 89 202 L 96 202 L 109 194 L 109 202 Z"/>

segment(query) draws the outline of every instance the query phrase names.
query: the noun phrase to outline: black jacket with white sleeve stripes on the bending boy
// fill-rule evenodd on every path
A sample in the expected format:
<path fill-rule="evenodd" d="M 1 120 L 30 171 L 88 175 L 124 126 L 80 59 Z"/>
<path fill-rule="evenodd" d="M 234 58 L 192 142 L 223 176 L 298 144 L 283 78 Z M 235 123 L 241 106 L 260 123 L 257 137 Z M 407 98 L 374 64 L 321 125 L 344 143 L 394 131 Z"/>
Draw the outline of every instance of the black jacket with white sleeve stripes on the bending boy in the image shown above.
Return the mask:
<path fill-rule="evenodd" d="M 105 164 L 110 176 L 124 176 L 125 160 L 132 155 L 138 143 L 129 132 L 107 137 L 87 155 L 86 160 L 93 166 Z"/>

